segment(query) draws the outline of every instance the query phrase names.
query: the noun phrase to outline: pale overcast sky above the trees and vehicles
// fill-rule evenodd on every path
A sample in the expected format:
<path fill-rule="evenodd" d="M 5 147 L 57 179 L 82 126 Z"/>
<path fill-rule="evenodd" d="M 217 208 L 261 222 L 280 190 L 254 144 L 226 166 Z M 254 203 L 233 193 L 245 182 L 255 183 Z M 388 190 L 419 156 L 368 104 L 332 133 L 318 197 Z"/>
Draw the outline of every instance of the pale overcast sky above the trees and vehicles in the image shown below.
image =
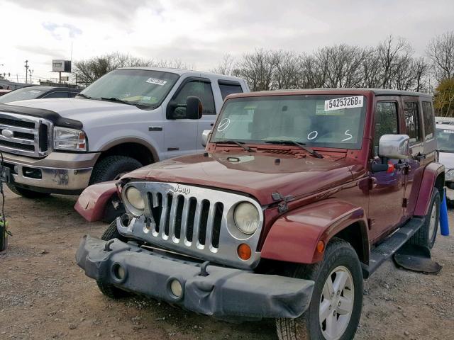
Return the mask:
<path fill-rule="evenodd" d="M 389 34 L 423 55 L 453 29 L 453 0 L 1 0 L 0 73 L 22 78 L 28 60 L 33 78 L 57 77 L 51 61 L 69 60 L 71 46 L 72 60 L 119 51 L 200 70 L 226 52 L 376 45 Z"/>

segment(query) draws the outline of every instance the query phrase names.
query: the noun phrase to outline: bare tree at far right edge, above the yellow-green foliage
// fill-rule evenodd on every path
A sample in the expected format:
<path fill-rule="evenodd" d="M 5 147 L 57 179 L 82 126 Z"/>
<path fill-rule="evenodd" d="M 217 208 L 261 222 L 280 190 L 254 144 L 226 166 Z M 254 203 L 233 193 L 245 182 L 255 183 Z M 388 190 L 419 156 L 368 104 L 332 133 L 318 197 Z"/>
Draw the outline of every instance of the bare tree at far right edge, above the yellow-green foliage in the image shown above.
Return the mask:
<path fill-rule="evenodd" d="M 437 35 L 427 45 L 437 81 L 454 77 L 454 31 Z"/>

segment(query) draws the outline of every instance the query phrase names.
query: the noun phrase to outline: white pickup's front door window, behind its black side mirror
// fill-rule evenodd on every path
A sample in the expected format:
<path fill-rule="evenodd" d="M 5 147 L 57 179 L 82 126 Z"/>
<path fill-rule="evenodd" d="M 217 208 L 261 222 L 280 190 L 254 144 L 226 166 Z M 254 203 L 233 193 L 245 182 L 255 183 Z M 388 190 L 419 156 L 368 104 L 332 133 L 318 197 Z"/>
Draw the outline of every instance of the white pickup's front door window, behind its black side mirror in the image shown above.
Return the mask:
<path fill-rule="evenodd" d="M 203 107 L 202 114 L 204 115 L 216 115 L 214 108 L 214 96 L 211 84 L 204 81 L 189 81 L 182 89 L 179 90 L 177 96 L 173 100 L 177 104 L 175 108 L 176 118 L 186 118 L 186 99 L 189 96 L 199 97 L 201 105 Z"/>

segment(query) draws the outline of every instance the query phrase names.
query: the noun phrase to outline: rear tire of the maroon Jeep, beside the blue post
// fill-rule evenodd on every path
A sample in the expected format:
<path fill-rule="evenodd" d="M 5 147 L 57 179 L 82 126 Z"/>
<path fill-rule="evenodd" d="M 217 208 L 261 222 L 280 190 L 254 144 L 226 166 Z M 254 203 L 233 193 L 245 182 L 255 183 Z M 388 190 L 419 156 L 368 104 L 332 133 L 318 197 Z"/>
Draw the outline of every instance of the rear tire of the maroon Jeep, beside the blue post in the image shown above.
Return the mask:
<path fill-rule="evenodd" d="M 440 192 L 437 188 L 433 188 L 431 203 L 428 207 L 428 213 L 426 215 L 426 221 L 424 222 L 424 225 L 414 233 L 411 239 L 409 239 L 409 244 L 414 244 L 416 246 L 427 246 L 429 249 L 432 249 L 433 244 L 435 244 L 438 232 L 440 205 Z"/>

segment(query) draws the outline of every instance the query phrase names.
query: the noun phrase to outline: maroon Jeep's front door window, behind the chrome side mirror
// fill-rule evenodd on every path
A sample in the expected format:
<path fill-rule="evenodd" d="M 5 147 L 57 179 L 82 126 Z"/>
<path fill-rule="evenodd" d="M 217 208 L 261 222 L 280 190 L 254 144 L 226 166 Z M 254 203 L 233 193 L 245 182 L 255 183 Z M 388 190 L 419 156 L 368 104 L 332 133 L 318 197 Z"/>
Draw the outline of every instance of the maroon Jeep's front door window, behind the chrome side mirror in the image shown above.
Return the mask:
<path fill-rule="evenodd" d="M 382 135 L 393 135 L 399 133 L 399 117 L 397 115 L 397 103 L 379 101 L 375 106 L 375 135 L 374 150 L 378 154 L 378 142 Z"/>

